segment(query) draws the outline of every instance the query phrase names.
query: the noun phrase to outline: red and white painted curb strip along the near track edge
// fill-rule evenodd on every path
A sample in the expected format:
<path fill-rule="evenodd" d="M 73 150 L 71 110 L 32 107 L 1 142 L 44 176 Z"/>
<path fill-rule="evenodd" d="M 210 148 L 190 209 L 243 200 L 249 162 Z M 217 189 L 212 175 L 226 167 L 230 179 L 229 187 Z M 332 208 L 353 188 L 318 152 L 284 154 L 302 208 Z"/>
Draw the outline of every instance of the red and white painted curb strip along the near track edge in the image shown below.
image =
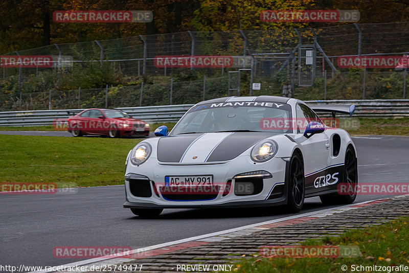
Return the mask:
<path fill-rule="evenodd" d="M 400 197 L 400 196 L 394 196 Z M 162 244 L 156 244 L 156 245 L 151 245 L 143 248 L 138 248 L 138 249 L 132 249 L 132 251 L 129 253 L 119 253 L 117 256 L 125 256 L 128 258 L 107 258 L 107 257 L 99 257 L 99 258 L 93 258 L 93 259 L 88 259 L 88 260 L 83 260 L 79 262 L 74 262 L 74 263 L 69 263 L 69 264 L 64 264 L 60 266 L 54 266 L 54 268 L 59 267 L 76 267 L 76 266 L 87 266 L 87 268 L 90 268 L 92 266 L 108 266 L 108 265 L 114 265 L 114 264 L 121 264 L 121 263 L 126 263 L 129 262 L 133 259 L 143 259 L 147 257 L 152 257 L 156 255 L 161 255 L 165 253 L 171 253 L 174 251 L 178 251 L 181 249 L 187 249 L 203 244 L 208 244 L 211 242 L 217 242 L 217 241 L 222 241 L 222 240 L 227 240 L 231 239 L 237 236 L 243 236 L 243 235 L 248 235 L 252 234 L 254 232 L 259 232 L 260 230 L 265 230 L 265 229 L 274 229 L 275 227 L 279 226 L 285 226 L 285 225 L 292 225 L 292 224 L 297 224 L 301 223 L 304 221 L 309 221 L 312 219 L 316 218 L 321 218 L 321 217 L 326 217 L 328 215 L 333 215 L 336 213 L 342 213 L 344 211 L 348 210 L 353 210 L 357 208 L 362 208 L 362 207 L 367 207 L 371 206 L 372 204 L 377 204 L 385 201 L 391 200 L 392 197 L 388 198 L 381 198 L 381 199 L 376 199 L 376 200 L 370 200 L 370 201 L 365 201 L 365 202 L 360 202 L 360 203 L 354 203 L 354 204 L 348 204 L 346 206 L 341 206 L 341 207 L 336 207 L 332 209 L 324 209 L 320 211 L 314 211 L 314 212 L 308 212 L 308 213 L 303 213 L 303 214 L 298 214 L 294 216 L 289 216 L 289 217 L 284 217 L 280 219 L 274 219 L 274 220 L 269 220 L 265 222 L 260 222 L 260 223 L 255 223 L 255 224 L 249 224 L 249 225 L 244 225 L 240 227 L 235 227 L 234 229 L 229 229 L 229 230 L 224 230 L 224 231 L 219 231 L 219 232 L 214 232 L 214 233 L 209 233 L 209 234 L 204 234 L 204 235 L 199 235 L 199 236 L 194 236 L 186 239 L 181 239 L 181 240 L 176 240 L 172 242 L 167 242 L 167 243 L 162 243 Z M 89 270 L 87 270 L 89 271 Z M 77 272 L 77 273 L 82 273 L 82 272 L 87 272 L 87 271 L 70 271 L 70 272 Z M 32 271 L 29 273 L 48 273 L 48 272 L 65 272 L 65 271 L 51 271 L 51 270 L 40 270 L 40 271 Z"/>

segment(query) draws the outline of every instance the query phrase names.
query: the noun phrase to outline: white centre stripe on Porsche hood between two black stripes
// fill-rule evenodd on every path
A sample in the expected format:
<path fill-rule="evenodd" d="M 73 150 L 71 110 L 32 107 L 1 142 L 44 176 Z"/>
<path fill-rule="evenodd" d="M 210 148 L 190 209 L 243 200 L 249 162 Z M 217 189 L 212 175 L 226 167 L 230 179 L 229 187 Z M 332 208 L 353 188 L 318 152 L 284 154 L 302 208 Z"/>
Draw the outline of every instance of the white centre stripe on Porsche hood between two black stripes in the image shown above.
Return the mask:
<path fill-rule="evenodd" d="M 201 138 L 196 139 L 194 143 L 186 150 L 181 163 L 203 163 L 206 158 L 225 138 L 231 135 L 231 132 L 223 133 L 206 133 Z M 196 159 L 193 159 L 197 156 Z"/>

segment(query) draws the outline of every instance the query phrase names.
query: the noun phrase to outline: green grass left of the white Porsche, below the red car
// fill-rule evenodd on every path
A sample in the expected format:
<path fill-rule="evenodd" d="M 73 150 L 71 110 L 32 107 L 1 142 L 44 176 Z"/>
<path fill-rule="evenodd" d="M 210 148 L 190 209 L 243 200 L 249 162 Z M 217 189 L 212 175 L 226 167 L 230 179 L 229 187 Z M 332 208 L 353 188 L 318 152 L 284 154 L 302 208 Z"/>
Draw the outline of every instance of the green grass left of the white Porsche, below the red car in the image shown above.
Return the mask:
<path fill-rule="evenodd" d="M 140 141 L 0 135 L 0 182 L 123 184 L 126 155 Z"/>

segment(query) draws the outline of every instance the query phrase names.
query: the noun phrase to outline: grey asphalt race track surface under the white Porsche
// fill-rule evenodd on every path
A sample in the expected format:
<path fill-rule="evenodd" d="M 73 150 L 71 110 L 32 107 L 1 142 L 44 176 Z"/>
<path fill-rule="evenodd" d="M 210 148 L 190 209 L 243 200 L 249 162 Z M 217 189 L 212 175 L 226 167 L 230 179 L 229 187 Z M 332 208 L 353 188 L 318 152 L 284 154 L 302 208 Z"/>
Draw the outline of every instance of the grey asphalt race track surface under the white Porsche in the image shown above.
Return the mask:
<path fill-rule="evenodd" d="M 362 136 L 354 142 L 360 182 L 408 182 L 409 137 Z M 356 202 L 386 196 L 359 195 Z M 157 219 L 141 219 L 122 208 L 124 200 L 123 186 L 79 188 L 66 195 L 0 195 L 0 264 L 61 265 L 81 259 L 54 258 L 56 246 L 140 248 L 289 216 L 282 208 L 169 209 Z M 331 206 L 309 198 L 301 212 L 324 208 Z"/>

